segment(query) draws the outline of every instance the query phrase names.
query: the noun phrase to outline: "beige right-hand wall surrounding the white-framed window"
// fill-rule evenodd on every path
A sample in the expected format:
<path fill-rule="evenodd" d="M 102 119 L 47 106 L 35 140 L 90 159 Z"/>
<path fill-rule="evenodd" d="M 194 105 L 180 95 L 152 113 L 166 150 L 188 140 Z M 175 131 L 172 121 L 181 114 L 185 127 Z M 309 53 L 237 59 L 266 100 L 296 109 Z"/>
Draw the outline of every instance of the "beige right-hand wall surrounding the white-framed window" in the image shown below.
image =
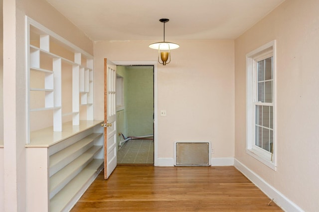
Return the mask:
<path fill-rule="evenodd" d="M 235 158 L 305 211 L 319 200 L 319 1 L 286 0 L 235 40 Z M 277 40 L 277 171 L 246 154 L 245 55 Z"/>

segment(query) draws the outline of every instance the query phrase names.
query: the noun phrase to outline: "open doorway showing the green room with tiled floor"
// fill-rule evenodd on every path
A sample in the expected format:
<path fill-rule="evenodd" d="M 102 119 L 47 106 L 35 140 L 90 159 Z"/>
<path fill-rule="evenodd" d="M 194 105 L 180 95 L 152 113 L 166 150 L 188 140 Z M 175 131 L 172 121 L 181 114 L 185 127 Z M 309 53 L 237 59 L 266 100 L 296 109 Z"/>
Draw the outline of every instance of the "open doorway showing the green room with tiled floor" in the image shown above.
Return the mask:
<path fill-rule="evenodd" d="M 154 165 L 154 65 L 117 66 L 118 165 Z"/>

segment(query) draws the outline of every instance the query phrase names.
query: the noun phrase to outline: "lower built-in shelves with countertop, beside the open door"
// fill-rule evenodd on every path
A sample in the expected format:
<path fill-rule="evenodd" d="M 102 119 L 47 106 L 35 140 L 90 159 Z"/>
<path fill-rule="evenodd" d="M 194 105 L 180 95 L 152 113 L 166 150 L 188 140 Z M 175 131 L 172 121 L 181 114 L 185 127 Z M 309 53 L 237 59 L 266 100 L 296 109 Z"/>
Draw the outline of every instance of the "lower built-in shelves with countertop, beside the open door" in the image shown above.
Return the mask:
<path fill-rule="evenodd" d="M 31 132 L 26 145 L 28 211 L 69 211 L 103 169 L 102 120 Z M 33 138 L 33 139 L 32 139 Z"/>

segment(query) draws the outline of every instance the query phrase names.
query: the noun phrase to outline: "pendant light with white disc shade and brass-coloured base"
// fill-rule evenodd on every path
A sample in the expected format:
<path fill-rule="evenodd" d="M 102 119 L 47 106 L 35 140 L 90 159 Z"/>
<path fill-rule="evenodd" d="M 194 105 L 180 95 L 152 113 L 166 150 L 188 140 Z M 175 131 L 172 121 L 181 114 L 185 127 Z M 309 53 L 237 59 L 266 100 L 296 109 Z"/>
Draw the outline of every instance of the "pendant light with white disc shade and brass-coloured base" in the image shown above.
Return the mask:
<path fill-rule="evenodd" d="M 159 50 L 158 61 L 160 64 L 162 64 L 164 66 L 170 62 L 170 50 L 177 49 L 179 47 L 179 45 L 176 43 L 165 42 L 165 23 L 168 21 L 169 21 L 169 19 L 167 19 L 167 18 L 160 19 L 160 22 L 162 22 L 164 24 L 163 42 L 152 43 L 149 45 L 150 48 Z M 162 62 L 160 62 L 160 59 Z M 168 60 L 168 62 L 167 62 L 167 60 Z"/>

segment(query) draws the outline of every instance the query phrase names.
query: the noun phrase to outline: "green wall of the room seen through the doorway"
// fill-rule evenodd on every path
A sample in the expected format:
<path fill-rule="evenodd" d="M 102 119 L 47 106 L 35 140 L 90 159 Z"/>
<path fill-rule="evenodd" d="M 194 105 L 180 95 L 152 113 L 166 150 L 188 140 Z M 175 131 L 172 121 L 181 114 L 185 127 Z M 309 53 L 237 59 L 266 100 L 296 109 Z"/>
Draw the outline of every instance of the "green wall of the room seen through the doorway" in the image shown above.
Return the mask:
<path fill-rule="evenodd" d="M 124 109 L 117 111 L 117 134 L 143 136 L 153 134 L 153 66 L 117 66 L 122 76 Z M 117 137 L 118 143 L 123 140 Z"/>

